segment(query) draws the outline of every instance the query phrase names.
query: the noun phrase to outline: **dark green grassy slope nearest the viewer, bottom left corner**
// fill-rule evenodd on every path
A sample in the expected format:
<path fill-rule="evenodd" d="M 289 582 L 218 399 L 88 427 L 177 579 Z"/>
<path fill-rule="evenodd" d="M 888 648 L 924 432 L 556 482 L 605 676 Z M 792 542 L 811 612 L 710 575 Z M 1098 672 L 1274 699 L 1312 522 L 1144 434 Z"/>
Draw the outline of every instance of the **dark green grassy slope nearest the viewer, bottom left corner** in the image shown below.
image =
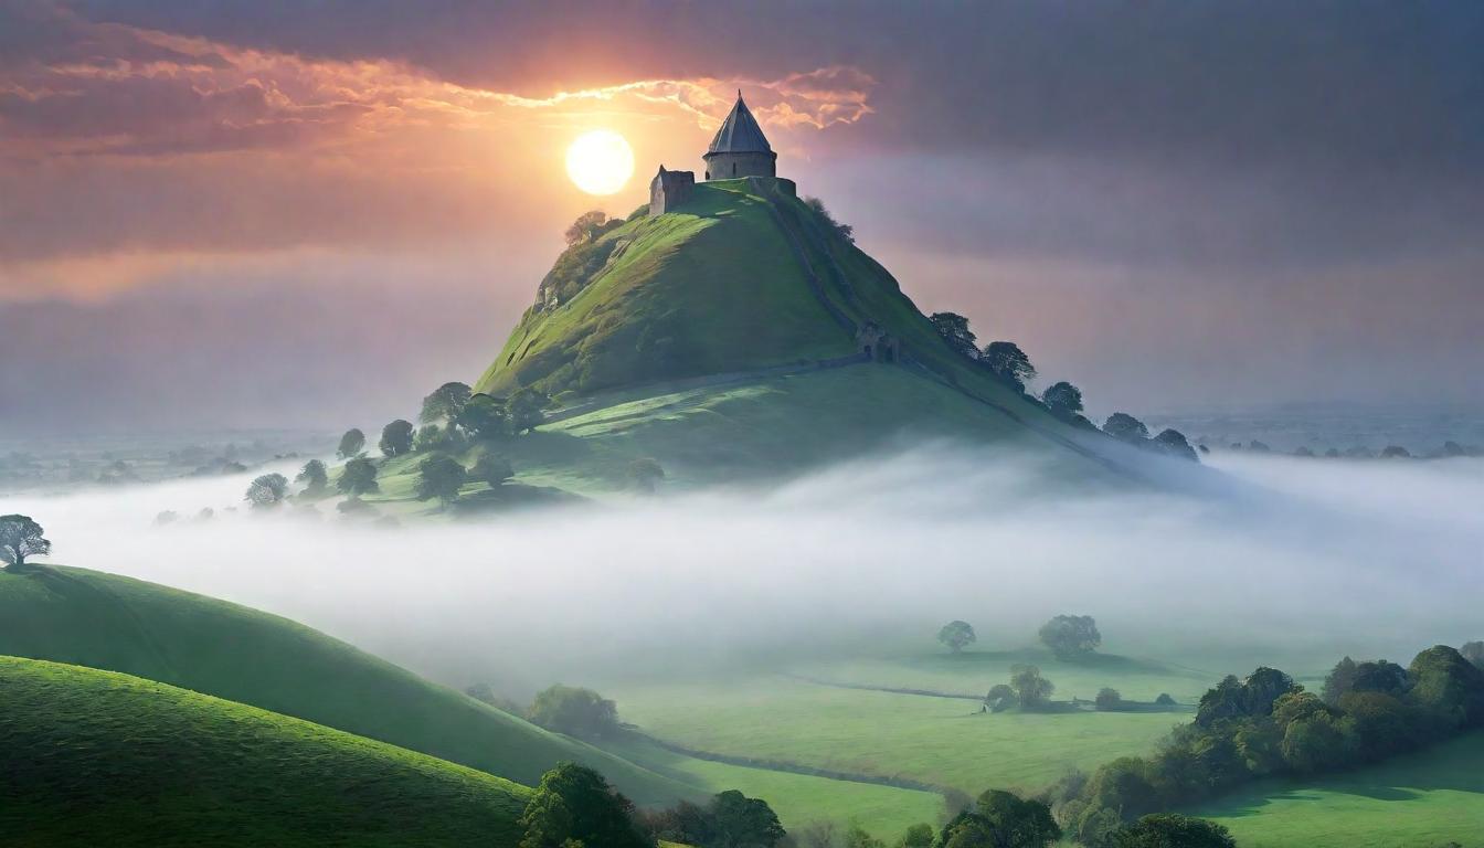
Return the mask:
<path fill-rule="evenodd" d="M 128 674 L 0 658 L 6 845 L 515 845 L 530 790 Z"/>

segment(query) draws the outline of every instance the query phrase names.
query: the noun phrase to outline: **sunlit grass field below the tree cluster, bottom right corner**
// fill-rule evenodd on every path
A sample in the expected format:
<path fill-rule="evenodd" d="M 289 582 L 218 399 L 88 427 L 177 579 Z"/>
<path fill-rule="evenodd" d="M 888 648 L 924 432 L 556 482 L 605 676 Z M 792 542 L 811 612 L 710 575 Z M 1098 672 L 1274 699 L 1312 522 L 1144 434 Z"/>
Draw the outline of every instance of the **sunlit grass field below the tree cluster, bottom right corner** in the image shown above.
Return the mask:
<path fill-rule="evenodd" d="M 1484 732 L 1315 781 L 1263 781 L 1192 811 L 1242 848 L 1484 845 Z"/>

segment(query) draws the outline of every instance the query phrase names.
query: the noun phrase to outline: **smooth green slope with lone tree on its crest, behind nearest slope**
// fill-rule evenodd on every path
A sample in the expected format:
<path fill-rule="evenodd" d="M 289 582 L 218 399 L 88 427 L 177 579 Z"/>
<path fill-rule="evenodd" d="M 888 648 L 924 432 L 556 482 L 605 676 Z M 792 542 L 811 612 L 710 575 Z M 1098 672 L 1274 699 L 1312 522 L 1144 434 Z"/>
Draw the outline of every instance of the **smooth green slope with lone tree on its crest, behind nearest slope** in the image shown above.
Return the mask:
<path fill-rule="evenodd" d="M 116 575 L 0 572 L 0 655 L 122 671 L 516 783 L 577 760 L 640 802 L 695 795 L 285 618 Z"/>

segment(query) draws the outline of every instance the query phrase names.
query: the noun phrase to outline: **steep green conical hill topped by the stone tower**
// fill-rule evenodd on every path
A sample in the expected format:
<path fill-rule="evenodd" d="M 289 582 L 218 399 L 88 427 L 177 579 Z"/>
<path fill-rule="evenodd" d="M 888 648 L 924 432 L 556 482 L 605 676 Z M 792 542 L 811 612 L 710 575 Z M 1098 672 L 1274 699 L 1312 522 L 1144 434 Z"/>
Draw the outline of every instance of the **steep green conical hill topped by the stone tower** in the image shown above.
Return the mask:
<path fill-rule="evenodd" d="M 864 353 L 858 331 L 871 325 L 892 356 L 880 342 Z M 892 275 L 781 180 L 703 183 L 678 211 L 635 212 L 570 247 L 475 389 L 525 386 L 555 398 L 543 431 L 568 438 L 512 447 L 521 478 L 574 490 L 634 456 L 705 481 L 904 432 L 1011 443 L 1079 477 L 1131 472 L 1101 434 L 950 349 Z"/>

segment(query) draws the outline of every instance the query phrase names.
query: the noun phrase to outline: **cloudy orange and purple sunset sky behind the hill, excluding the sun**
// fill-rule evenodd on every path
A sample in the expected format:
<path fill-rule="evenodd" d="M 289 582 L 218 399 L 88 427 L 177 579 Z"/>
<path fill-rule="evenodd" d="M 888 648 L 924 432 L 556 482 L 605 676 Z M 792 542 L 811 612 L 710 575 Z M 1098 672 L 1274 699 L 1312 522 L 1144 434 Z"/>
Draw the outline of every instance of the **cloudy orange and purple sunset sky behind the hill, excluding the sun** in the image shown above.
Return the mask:
<path fill-rule="evenodd" d="M 1478 408 L 1480 43 L 1463 1 L 0 0 L 0 428 L 416 411 L 738 89 L 923 310 L 1094 413 Z M 617 195 L 565 177 L 591 129 Z"/>

